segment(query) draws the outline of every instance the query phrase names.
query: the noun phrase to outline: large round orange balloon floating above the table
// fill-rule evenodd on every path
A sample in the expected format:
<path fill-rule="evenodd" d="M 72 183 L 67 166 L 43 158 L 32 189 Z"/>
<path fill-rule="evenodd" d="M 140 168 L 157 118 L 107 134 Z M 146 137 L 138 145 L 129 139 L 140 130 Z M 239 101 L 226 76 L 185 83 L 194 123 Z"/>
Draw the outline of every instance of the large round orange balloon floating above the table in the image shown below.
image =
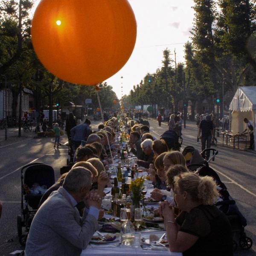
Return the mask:
<path fill-rule="evenodd" d="M 137 24 L 128 0 L 41 0 L 31 33 L 35 52 L 51 73 L 93 85 L 128 61 Z"/>

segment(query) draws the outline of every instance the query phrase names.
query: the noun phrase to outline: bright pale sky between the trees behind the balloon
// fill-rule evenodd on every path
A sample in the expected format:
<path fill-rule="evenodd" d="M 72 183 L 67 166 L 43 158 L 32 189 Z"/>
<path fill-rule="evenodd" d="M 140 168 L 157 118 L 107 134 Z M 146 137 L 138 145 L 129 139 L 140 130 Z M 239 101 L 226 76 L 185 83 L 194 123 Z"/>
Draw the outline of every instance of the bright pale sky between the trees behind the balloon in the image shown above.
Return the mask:
<path fill-rule="evenodd" d="M 137 21 L 136 44 L 125 66 L 106 80 L 119 99 L 128 95 L 147 73 L 155 73 L 162 66 L 164 49 L 171 54 L 175 50 L 177 62 L 184 61 L 184 44 L 190 40 L 194 18 L 193 0 L 128 1 Z M 36 0 L 35 7 L 39 2 Z"/>

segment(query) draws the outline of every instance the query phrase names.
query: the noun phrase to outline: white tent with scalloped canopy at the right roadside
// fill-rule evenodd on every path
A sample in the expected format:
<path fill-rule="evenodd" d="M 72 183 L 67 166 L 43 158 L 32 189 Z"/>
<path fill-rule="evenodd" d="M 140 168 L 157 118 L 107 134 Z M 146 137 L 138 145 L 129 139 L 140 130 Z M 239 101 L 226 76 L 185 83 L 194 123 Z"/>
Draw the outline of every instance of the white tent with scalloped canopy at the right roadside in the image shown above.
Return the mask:
<path fill-rule="evenodd" d="M 231 130 L 243 132 L 245 130 L 244 118 L 253 121 L 254 144 L 256 145 L 256 86 L 239 87 L 230 103 Z M 256 150 L 256 147 L 255 147 Z"/>

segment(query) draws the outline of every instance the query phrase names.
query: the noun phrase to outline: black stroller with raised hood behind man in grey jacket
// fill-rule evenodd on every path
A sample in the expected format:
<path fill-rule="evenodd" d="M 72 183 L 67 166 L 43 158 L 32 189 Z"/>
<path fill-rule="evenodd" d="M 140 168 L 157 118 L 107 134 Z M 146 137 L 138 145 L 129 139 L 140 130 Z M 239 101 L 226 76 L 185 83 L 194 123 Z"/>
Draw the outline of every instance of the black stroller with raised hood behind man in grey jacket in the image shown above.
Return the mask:
<path fill-rule="evenodd" d="M 20 244 L 23 246 L 26 245 L 29 228 L 43 196 L 29 193 L 35 183 L 49 189 L 55 183 L 53 168 L 44 163 L 30 163 L 21 168 L 21 214 L 17 216 L 17 230 Z M 22 227 L 25 227 L 26 234 L 22 234 Z"/>

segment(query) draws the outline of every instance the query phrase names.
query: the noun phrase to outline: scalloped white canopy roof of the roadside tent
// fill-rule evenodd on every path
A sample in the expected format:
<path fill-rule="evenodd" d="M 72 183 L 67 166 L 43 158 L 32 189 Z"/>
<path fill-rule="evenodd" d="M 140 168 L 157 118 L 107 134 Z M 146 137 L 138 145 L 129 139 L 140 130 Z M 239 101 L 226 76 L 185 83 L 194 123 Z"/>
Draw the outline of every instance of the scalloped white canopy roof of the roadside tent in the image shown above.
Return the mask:
<path fill-rule="evenodd" d="M 239 87 L 229 109 L 231 111 L 256 110 L 256 86 Z"/>

